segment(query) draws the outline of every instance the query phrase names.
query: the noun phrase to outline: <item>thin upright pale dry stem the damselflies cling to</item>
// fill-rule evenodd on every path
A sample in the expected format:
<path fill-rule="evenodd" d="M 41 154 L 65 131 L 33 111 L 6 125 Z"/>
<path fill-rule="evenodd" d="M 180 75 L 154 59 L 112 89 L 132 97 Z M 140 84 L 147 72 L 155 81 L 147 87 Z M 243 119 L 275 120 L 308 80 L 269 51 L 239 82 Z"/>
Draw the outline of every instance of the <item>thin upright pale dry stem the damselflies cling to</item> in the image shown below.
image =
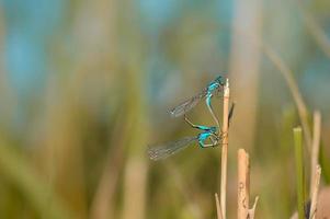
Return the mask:
<path fill-rule="evenodd" d="M 228 155 L 228 114 L 229 114 L 229 80 L 224 88 L 224 118 L 223 118 L 223 147 L 221 147 L 221 185 L 220 204 L 223 219 L 226 219 L 226 188 L 227 188 L 227 155 Z"/>

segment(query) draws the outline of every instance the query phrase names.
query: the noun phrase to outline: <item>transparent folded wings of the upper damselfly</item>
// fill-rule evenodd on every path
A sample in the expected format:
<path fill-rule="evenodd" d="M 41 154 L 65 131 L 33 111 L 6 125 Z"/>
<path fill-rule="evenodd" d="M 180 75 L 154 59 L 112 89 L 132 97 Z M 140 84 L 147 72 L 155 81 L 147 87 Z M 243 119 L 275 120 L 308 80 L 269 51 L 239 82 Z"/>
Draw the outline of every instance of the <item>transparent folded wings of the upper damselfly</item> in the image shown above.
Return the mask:
<path fill-rule="evenodd" d="M 191 111 L 193 107 L 197 105 L 197 103 L 207 94 L 207 90 L 204 89 L 197 95 L 184 101 L 183 103 L 175 106 L 170 111 L 172 117 L 180 117 Z"/>

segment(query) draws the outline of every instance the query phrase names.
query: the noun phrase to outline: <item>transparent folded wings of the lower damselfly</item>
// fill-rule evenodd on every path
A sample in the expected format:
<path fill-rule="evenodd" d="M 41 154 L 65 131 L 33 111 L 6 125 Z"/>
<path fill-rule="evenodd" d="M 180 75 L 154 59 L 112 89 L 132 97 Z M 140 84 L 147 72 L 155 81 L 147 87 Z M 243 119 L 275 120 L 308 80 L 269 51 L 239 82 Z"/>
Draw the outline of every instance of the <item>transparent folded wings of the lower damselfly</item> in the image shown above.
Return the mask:
<path fill-rule="evenodd" d="M 189 147 L 191 143 L 196 141 L 198 139 L 197 136 L 194 137 L 184 137 L 180 140 L 168 142 L 164 145 L 159 145 L 156 147 L 150 147 L 148 149 L 148 154 L 151 160 L 161 160 L 166 159 L 172 154 L 178 153 L 179 151 L 185 149 Z"/>

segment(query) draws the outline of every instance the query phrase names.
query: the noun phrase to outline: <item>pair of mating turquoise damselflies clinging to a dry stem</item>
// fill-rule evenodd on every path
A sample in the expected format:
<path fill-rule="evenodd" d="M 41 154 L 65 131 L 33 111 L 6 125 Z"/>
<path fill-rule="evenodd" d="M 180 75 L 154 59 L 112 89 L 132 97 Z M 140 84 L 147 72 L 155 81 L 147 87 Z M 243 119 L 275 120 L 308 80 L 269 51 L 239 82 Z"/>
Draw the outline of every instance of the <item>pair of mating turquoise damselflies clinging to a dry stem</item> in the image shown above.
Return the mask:
<path fill-rule="evenodd" d="M 179 139 L 177 141 L 167 142 L 163 145 L 158 145 L 155 147 L 150 147 L 148 149 L 148 154 L 151 160 L 161 160 L 166 159 L 185 148 L 191 146 L 194 142 L 198 142 L 201 148 L 216 147 L 219 146 L 223 139 L 223 134 L 219 130 L 219 120 L 216 117 L 213 107 L 212 107 L 212 97 L 216 93 L 220 93 L 226 84 L 225 79 L 219 76 L 214 81 L 208 83 L 208 85 L 203 89 L 198 94 L 190 97 L 183 103 L 175 106 L 171 112 L 172 117 L 184 116 L 184 120 L 193 128 L 201 130 L 197 136 L 190 136 Z M 203 126 L 193 124 L 187 117 L 186 113 L 194 108 L 202 100 L 205 99 L 206 106 L 216 123 L 216 126 Z M 228 114 L 228 120 L 230 120 L 234 113 L 234 104 L 230 107 L 230 112 Z"/>

